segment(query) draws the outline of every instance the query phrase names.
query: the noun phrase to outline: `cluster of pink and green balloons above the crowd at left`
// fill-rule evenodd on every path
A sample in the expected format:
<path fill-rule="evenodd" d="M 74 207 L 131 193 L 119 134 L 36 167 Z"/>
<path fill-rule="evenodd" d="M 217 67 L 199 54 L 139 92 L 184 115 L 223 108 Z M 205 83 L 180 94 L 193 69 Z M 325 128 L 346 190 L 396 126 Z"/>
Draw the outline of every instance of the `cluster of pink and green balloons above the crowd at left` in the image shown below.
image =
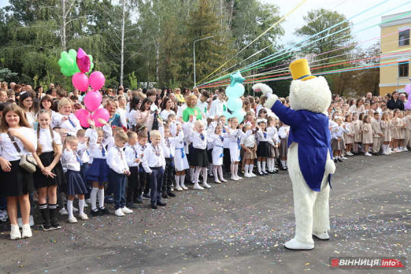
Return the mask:
<path fill-rule="evenodd" d="M 60 66 L 62 66 L 62 73 L 66 76 L 73 76 L 71 79 L 73 86 L 80 91 L 88 90 L 88 86 L 91 86 L 92 88 L 92 90 L 87 92 L 83 99 L 86 110 L 77 110 L 75 116 L 79 119 L 82 127 L 90 127 L 88 119 L 95 121 L 96 127 L 101 127 L 103 124 L 99 122 L 99 119 L 103 119 L 107 122 L 108 119 L 110 119 L 108 110 L 105 108 L 99 108 L 102 98 L 99 89 L 103 88 L 105 84 L 105 77 L 103 73 L 95 71 L 90 74 L 90 77 L 87 77 L 86 73 L 89 73 L 93 67 L 91 62 L 92 57 L 91 55 L 87 55 L 82 48 L 79 48 L 77 53 L 74 49 L 71 49 L 69 53 L 63 51 L 61 55 L 62 59 L 58 61 L 58 64 L 63 64 L 64 62 L 66 67 L 63 68 L 62 64 L 60 64 Z M 72 62 L 74 62 L 73 60 L 75 60 L 75 65 L 72 64 Z M 75 67 L 75 71 L 73 71 L 73 73 L 72 69 L 67 69 L 73 67 Z"/>

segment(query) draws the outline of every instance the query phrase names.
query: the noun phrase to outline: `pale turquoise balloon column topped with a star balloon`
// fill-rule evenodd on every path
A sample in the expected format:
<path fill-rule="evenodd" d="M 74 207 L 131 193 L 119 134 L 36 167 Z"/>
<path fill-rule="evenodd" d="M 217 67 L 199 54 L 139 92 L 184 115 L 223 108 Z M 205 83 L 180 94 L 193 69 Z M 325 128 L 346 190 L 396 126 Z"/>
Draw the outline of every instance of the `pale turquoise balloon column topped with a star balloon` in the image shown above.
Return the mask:
<path fill-rule="evenodd" d="M 227 107 L 233 113 L 230 114 L 229 112 L 223 112 L 222 115 L 224 115 L 227 120 L 229 118 L 236 117 L 238 119 L 238 123 L 241 123 L 244 119 L 244 114 L 241 112 L 242 100 L 240 97 L 242 97 L 245 92 L 245 88 L 242 86 L 242 82 L 245 81 L 245 78 L 241 76 L 240 71 L 232 73 L 229 77 L 231 79 L 231 83 L 225 89 L 225 95 L 228 97 Z"/>

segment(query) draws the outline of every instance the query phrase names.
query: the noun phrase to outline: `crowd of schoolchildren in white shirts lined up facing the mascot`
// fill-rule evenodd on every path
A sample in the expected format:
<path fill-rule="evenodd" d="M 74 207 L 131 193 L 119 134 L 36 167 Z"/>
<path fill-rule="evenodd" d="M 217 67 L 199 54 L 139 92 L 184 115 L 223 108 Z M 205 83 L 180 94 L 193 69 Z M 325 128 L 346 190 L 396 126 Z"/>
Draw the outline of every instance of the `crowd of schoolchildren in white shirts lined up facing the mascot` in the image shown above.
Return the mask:
<path fill-rule="evenodd" d="M 29 102 L 26 108 L 12 102 L 1 104 L 0 194 L 7 197 L 10 238 L 32 236 L 35 189 L 42 229 L 49 231 L 61 227 L 56 208 L 68 215 L 69 223 L 77 223 L 75 212 L 79 219 L 87 220 L 84 208 L 88 204 L 90 216 L 109 214 L 105 203 L 114 203 L 114 214 L 125 216 L 144 199 L 150 200 L 153 209 L 166 206 L 164 199 L 188 190 L 188 184 L 194 190 L 212 188 L 208 177 L 221 184 L 227 179 L 287 171 L 290 127 L 271 110 L 256 105 L 251 97 L 243 99 L 244 118 L 227 117 L 223 115 L 227 110 L 223 88 L 216 91 L 214 99 L 205 90 L 193 93 L 178 97 L 180 105 L 173 93 L 160 97 L 155 89 L 132 93 L 123 106 L 119 105 L 123 97 L 105 99 L 101 107 L 108 109 L 109 121 L 89 119 L 88 128 L 82 128 L 75 116 L 82 105 L 69 98 L 62 97 L 57 103 L 43 97 L 41 110 L 32 115 L 33 123 L 27 122 Z M 154 105 L 158 97 L 162 105 Z M 282 101 L 288 104 L 286 99 Z M 53 103 L 57 103 L 55 111 Z M 371 156 L 407 151 L 411 111 L 369 109 L 358 113 L 348 106 L 332 102 L 329 108 L 335 162 L 361 152 Z M 22 155 L 33 155 L 35 173 L 19 165 Z M 229 178 L 224 178 L 223 166 Z M 73 206 L 75 199 L 78 210 Z"/>

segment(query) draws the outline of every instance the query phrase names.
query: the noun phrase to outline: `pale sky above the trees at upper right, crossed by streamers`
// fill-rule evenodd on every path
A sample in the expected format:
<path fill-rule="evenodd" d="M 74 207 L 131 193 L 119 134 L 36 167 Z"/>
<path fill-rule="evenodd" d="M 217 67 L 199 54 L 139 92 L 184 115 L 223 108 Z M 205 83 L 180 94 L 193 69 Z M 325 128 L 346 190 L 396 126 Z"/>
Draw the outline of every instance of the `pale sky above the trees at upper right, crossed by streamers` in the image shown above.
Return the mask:
<path fill-rule="evenodd" d="M 271 3 L 279 6 L 280 15 L 284 16 L 288 12 L 290 12 L 293 8 L 295 8 L 299 3 L 303 0 L 286 0 L 286 1 L 279 1 L 279 0 L 260 0 L 263 3 Z M 299 29 L 304 25 L 303 16 L 307 15 L 308 11 L 316 10 L 319 8 L 325 8 L 327 10 L 332 10 L 344 14 L 347 18 L 351 18 L 360 12 L 367 10 L 378 3 L 382 3 L 386 0 L 307 0 L 303 3 L 297 10 L 292 12 L 290 15 L 287 16 L 286 22 L 282 23 L 282 27 L 284 27 L 285 31 L 285 38 L 282 40 L 286 42 L 294 41 L 299 42 L 302 38 L 294 36 L 292 33 L 295 32 L 295 29 Z M 406 5 L 401 6 L 400 8 L 396 8 L 395 10 L 388 10 L 395 8 L 403 3 Z M 371 25 L 375 25 L 382 22 L 382 16 L 390 15 L 390 14 L 397 14 L 400 12 L 411 11 L 411 1 L 410 0 L 389 0 L 382 5 L 369 10 L 368 12 L 364 12 L 359 16 L 356 16 L 351 19 L 353 24 L 360 23 L 368 18 L 376 16 L 377 14 L 381 14 L 372 18 L 364 23 L 360 23 L 353 27 L 353 32 L 358 32 L 361 29 L 366 27 L 370 27 Z M 385 12 L 384 14 L 382 14 Z M 362 32 L 358 32 L 355 34 L 356 41 L 362 42 L 366 40 L 370 40 L 373 38 L 377 38 L 381 36 L 380 34 L 380 27 L 375 26 L 371 29 L 364 30 Z M 375 44 L 376 40 L 372 40 L 370 42 L 364 42 L 360 44 L 361 47 L 370 47 L 371 45 Z"/>

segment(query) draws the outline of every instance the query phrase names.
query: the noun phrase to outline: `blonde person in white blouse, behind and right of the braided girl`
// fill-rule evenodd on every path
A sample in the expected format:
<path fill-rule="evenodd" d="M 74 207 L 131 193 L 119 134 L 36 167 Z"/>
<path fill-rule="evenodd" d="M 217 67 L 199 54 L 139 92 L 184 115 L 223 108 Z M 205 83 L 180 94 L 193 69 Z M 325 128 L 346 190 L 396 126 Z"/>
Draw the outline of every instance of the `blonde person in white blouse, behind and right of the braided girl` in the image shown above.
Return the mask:
<path fill-rule="evenodd" d="M 69 131 L 69 134 L 75 136 L 79 129 L 82 129 L 79 119 L 71 113 L 73 103 L 68 98 L 63 98 L 58 102 L 58 112 L 51 119 L 51 127 L 61 127 Z"/>

